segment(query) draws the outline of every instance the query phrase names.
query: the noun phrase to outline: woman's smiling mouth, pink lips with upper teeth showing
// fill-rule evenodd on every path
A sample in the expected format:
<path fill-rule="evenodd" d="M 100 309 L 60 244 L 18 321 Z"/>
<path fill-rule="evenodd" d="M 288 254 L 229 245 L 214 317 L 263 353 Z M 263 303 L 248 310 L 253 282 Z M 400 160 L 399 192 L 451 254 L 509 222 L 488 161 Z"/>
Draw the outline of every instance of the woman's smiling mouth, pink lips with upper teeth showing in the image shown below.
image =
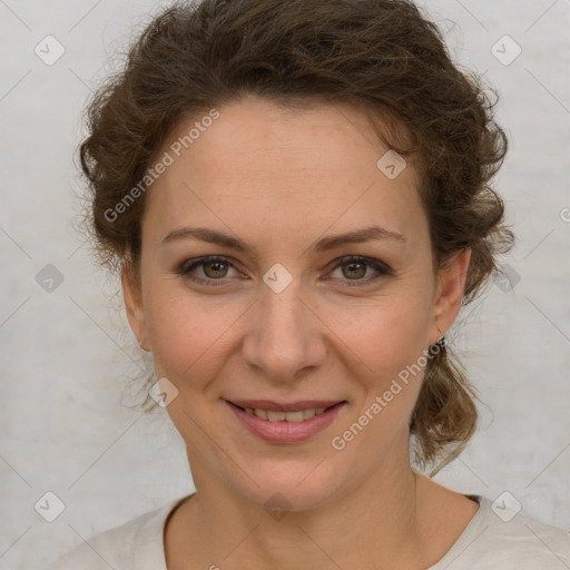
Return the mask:
<path fill-rule="evenodd" d="M 291 404 L 268 401 L 225 402 L 247 432 L 269 443 L 304 442 L 328 428 L 348 404 L 346 400 Z"/>

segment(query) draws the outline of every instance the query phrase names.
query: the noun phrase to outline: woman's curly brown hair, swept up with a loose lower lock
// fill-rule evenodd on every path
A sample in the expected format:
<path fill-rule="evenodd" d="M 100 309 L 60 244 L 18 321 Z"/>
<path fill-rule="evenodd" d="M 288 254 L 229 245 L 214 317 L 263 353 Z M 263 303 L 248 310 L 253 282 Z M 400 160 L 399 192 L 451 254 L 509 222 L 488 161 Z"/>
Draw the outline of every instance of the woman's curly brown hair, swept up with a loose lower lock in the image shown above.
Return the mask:
<path fill-rule="evenodd" d="M 116 205 L 140 188 L 183 120 L 246 94 L 291 108 L 348 102 L 371 124 L 382 117 L 379 136 L 417 168 L 434 267 L 471 248 L 463 305 L 501 273 L 498 255 L 514 235 L 489 186 L 508 148 L 497 92 L 452 61 L 436 24 L 407 0 L 204 0 L 156 14 L 86 108 L 79 155 L 102 266 L 138 275 L 145 194 L 120 216 Z M 476 395 L 449 346 L 430 354 L 410 433 L 415 461 L 441 460 L 441 469 L 474 433 Z"/>

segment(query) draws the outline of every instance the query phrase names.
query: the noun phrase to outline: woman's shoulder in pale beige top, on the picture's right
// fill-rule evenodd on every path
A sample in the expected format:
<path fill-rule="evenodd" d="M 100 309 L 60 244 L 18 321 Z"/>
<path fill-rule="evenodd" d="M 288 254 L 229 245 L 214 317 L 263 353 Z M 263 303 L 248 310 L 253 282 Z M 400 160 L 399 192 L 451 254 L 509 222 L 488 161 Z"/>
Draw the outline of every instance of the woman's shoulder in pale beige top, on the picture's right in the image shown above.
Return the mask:
<path fill-rule="evenodd" d="M 433 570 L 570 568 L 570 532 L 478 497 L 479 511 Z"/>

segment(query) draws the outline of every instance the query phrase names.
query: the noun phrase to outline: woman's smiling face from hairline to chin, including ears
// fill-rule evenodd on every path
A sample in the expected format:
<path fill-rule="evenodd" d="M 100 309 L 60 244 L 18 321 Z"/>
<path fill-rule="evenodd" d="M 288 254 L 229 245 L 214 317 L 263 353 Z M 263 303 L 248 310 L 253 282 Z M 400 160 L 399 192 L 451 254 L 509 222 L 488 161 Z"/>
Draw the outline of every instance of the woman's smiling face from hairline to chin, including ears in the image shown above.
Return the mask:
<path fill-rule="evenodd" d="M 196 119 L 160 153 L 176 159 L 146 196 L 127 314 L 178 391 L 167 410 L 197 489 L 309 508 L 410 469 L 421 356 L 456 316 L 469 250 L 434 273 L 416 173 L 376 166 L 389 149 L 357 109 L 248 97 L 219 114 L 179 157 Z M 304 420 L 234 405 L 272 407 L 250 401 Z"/>

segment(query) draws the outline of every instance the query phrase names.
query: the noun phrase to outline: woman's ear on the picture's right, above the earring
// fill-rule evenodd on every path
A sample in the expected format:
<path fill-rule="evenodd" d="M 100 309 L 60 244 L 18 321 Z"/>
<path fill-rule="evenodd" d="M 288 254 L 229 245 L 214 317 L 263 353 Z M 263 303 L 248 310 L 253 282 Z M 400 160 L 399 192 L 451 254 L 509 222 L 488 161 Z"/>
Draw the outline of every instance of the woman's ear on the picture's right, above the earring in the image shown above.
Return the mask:
<path fill-rule="evenodd" d="M 469 264 L 471 262 L 471 248 L 468 247 L 454 254 L 449 264 L 439 272 L 439 284 L 435 292 L 434 304 L 434 338 L 435 343 L 442 334 L 454 323 L 463 301 L 465 291 L 465 281 L 468 276 Z"/>

